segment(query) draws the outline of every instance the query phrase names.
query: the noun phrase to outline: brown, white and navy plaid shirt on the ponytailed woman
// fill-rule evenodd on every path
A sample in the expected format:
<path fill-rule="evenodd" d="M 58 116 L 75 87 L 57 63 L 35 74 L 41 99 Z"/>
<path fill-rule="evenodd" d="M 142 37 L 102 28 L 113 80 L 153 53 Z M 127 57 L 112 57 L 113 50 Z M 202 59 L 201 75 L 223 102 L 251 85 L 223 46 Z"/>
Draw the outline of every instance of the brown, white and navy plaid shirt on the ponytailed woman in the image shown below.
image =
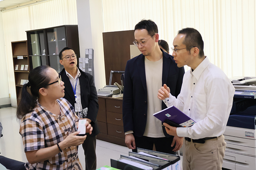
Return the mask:
<path fill-rule="evenodd" d="M 79 118 L 74 112 L 74 107 L 64 98 L 57 101 L 61 107 L 60 115 L 50 113 L 37 101 L 34 111 L 21 119 L 20 135 L 25 152 L 54 146 L 76 131 L 75 122 Z M 76 146 L 71 146 L 43 162 L 27 162 L 25 167 L 27 170 L 83 170 L 77 151 Z"/>

